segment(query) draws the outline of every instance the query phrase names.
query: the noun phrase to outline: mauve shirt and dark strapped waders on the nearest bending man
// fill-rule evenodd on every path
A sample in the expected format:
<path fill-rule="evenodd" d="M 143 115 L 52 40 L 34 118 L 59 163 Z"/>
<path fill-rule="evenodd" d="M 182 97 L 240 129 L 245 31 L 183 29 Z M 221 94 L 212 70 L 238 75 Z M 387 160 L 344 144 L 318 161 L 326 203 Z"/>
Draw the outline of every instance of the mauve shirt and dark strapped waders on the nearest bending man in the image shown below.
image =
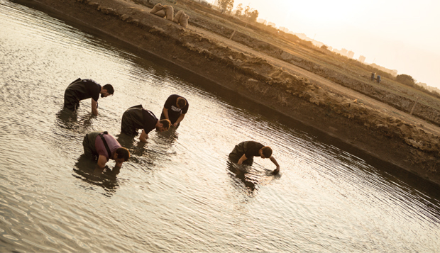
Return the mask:
<path fill-rule="evenodd" d="M 102 133 L 102 137 L 106 140 L 107 146 L 109 147 L 109 152 L 107 151 L 104 142 L 99 136 Z M 119 142 L 115 139 L 113 135 L 109 135 L 106 132 L 98 131 L 87 133 L 82 140 L 82 147 L 84 147 L 84 154 L 92 159 L 97 159 L 100 155 L 104 155 L 107 161 L 113 157 L 114 152 L 116 152 L 119 147 L 122 147 Z"/>

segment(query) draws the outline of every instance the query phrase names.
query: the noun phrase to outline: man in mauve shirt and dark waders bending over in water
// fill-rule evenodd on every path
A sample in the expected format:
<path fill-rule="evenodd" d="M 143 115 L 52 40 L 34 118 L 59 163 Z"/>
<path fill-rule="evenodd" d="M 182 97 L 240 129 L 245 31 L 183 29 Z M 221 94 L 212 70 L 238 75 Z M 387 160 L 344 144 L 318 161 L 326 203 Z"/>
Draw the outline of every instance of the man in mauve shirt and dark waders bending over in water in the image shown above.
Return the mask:
<path fill-rule="evenodd" d="M 114 169 L 119 172 L 122 163 L 130 158 L 130 152 L 122 147 L 113 135 L 103 131 L 87 133 L 82 141 L 82 147 L 86 157 L 97 160 L 99 169 L 104 169 L 109 159 L 114 159 L 116 162 Z"/>

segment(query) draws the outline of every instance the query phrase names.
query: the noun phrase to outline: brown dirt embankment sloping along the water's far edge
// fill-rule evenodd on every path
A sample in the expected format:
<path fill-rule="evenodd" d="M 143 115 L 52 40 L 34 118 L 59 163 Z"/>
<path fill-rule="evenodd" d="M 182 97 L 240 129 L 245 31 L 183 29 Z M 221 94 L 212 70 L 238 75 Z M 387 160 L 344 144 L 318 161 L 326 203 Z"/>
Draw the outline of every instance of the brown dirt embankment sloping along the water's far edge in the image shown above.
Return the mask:
<path fill-rule="evenodd" d="M 265 57 L 229 47 L 214 35 L 182 28 L 132 1 L 15 1 L 38 5 L 67 22 L 96 28 L 440 184 L 439 135 L 408 123 L 405 117 L 395 118 L 343 94 L 326 91 L 276 67 Z M 368 89 L 365 92 L 372 93 Z"/>

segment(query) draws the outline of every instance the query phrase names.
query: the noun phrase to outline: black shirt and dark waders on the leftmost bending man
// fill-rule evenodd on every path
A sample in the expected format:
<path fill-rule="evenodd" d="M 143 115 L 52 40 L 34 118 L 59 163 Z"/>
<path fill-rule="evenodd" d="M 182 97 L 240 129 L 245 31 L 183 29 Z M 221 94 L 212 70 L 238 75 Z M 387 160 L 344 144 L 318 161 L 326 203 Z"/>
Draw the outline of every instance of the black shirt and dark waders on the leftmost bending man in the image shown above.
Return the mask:
<path fill-rule="evenodd" d="M 76 79 L 67 86 L 64 93 L 64 108 L 75 111 L 79 107 L 79 101 L 92 98 L 98 101 L 101 93 L 101 85 L 92 79 Z"/>

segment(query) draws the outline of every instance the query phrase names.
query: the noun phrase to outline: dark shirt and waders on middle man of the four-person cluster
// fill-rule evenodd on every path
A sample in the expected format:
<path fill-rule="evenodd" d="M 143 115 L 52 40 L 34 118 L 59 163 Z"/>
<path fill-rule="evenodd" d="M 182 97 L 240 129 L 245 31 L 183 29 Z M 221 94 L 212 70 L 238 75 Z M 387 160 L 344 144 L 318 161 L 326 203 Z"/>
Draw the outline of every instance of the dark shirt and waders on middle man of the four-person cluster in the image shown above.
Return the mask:
<path fill-rule="evenodd" d="M 128 108 L 122 115 L 121 133 L 138 135 L 143 129 L 146 134 L 156 128 L 158 118 L 151 111 L 145 110 L 142 105 Z"/>

